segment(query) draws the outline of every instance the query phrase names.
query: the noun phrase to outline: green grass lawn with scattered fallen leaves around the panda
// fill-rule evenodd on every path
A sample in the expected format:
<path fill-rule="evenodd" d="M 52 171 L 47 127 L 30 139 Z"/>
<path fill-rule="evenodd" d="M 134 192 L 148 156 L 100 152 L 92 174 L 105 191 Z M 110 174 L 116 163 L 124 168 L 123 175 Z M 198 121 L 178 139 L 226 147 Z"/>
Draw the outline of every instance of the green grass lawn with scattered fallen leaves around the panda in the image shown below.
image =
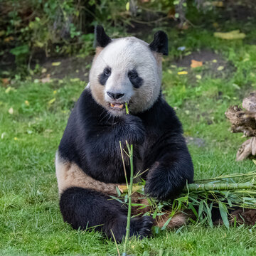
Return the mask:
<path fill-rule="evenodd" d="M 215 28 L 210 18 L 207 22 L 186 31 L 167 30 L 170 55 L 164 59 L 164 96 L 175 107 L 184 135 L 192 138 L 195 178 L 255 171 L 252 161 L 235 161 L 245 138 L 230 133 L 224 114 L 256 88 L 255 23 L 223 23 L 221 31 L 246 33 L 243 41 L 224 41 L 213 37 Z M 186 49 L 181 52 L 179 46 Z M 191 69 L 193 58 L 203 60 L 203 66 Z M 0 85 L 0 255 L 117 255 L 114 243 L 100 233 L 73 230 L 63 223 L 58 208 L 55 151 L 85 85 L 68 78 Z M 255 255 L 255 240 L 256 226 L 228 230 L 188 224 L 152 239 L 132 238 L 129 253 Z M 122 245 L 118 247 L 122 252 Z"/>

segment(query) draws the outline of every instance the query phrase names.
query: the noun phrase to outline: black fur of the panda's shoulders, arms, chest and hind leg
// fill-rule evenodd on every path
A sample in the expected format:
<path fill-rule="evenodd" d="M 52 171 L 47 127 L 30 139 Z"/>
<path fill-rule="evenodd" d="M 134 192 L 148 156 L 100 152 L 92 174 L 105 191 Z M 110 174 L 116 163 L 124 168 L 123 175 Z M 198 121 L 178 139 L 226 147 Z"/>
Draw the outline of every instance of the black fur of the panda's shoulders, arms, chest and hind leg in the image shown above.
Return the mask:
<path fill-rule="evenodd" d="M 156 42 L 161 40 L 156 38 Z M 154 43 L 154 49 L 163 50 L 163 46 Z M 114 116 L 106 115 L 105 108 L 92 97 L 90 87 L 85 89 L 70 114 L 58 155 L 97 181 L 125 183 L 119 142 L 124 145 L 126 141 L 134 144 L 134 172 L 149 169 L 142 177 L 147 195 L 159 200 L 174 198 L 186 182 L 193 181 L 193 164 L 181 122 L 161 92 L 149 110 Z M 128 157 L 124 162 L 129 177 Z M 96 230 L 108 237 L 112 230 L 120 241 L 125 234 L 127 209 L 109 199 L 92 188 L 72 186 L 60 194 L 60 210 L 73 228 L 97 226 Z M 132 218 L 131 235 L 149 236 L 152 225 L 149 216 Z"/>

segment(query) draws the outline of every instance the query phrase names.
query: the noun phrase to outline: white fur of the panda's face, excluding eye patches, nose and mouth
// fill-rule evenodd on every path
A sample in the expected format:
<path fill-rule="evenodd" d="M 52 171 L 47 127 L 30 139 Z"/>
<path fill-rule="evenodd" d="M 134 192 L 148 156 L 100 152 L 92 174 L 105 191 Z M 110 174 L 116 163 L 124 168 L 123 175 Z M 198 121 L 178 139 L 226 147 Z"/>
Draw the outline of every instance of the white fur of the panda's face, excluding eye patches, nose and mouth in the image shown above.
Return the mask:
<path fill-rule="evenodd" d="M 102 87 L 98 77 L 106 66 L 111 67 L 112 74 Z M 134 69 L 144 81 L 138 90 L 127 76 L 129 70 Z M 95 55 L 90 70 L 90 88 L 97 103 L 112 114 L 124 114 L 125 110 L 115 111 L 110 108 L 112 98 L 107 95 L 107 91 L 124 93 L 124 97 L 116 102 L 129 102 L 129 111 L 133 113 L 148 110 L 156 102 L 161 89 L 161 55 L 153 54 L 149 44 L 138 38 L 114 39 Z"/>

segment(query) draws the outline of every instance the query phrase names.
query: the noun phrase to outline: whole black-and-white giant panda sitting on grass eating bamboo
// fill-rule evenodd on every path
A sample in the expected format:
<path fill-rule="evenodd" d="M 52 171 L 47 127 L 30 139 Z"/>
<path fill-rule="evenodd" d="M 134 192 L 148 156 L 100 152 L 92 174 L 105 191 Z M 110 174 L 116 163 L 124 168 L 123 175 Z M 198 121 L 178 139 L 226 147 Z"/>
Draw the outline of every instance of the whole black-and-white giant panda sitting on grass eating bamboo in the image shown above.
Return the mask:
<path fill-rule="evenodd" d="M 97 26 L 95 43 L 89 84 L 55 156 L 60 211 L 75 229 L 95 227 L 121 241 L 127 208 L 110 200 L 116 186 L 125 183 L 119 142 L 134 145 L 134 173 L 148 169 L 142 175 L 146 195 L 159 201 L 175 198 L 193 181 L 193 163 L 181 122 L 161 94 L 166 33 L 156 32 L 148 44 L 135 37 L 111 39 Z M 127 156 L 124 164 L 129 177 Z M 173 218 L 169 225 L 177 223 L 183 224 L 183 218 Z M 132 218 L 130 235 L 148 237 L 153 224 L 150 216 Z"/>

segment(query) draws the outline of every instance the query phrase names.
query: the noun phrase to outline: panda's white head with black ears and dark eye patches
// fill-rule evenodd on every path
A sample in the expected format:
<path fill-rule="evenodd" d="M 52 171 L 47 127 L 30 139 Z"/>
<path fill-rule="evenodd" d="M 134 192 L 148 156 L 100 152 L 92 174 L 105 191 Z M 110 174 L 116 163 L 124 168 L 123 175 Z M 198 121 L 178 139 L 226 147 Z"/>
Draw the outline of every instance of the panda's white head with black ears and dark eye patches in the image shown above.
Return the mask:
<path fill-rule="evenodd" d="M 166 33 L 158 31 L 148 44 L 135 37 L 110 39 L 95 28 L 96 54 L 90 70 L 95 101 L 115 116 L 148 110 L 161 90 L 161 57 L 168 54 Z"/>

